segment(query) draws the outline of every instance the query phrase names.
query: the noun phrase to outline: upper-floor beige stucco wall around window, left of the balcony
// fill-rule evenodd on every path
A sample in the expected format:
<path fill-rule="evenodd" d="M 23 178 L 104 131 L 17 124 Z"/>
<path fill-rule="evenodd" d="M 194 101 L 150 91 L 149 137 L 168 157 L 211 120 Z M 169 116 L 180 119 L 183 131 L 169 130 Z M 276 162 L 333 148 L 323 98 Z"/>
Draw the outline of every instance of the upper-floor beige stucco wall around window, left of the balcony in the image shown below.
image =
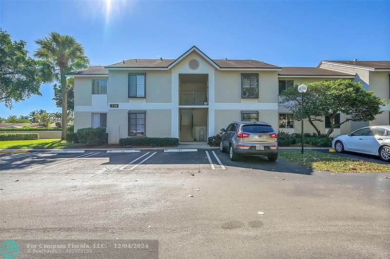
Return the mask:
<path fill-rule="evenodd" d="M 128 103 L 128 74 L 146 74 L 146 102 L 170 103 L 171 102 L 171 71 L 153 70 L 109 70 L 110 83 L 107 89 L 109 103 Z"/>

